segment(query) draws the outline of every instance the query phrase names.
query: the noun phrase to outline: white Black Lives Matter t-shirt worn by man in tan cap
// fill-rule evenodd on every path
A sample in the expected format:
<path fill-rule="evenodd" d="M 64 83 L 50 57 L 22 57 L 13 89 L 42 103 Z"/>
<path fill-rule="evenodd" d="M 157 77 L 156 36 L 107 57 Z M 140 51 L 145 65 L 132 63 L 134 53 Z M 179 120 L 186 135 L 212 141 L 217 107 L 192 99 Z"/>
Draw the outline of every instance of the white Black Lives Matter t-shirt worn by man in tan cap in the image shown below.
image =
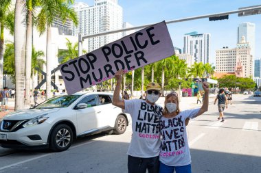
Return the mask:
<path fill-rule="evenodd" d="M 149 158 L 159 155 L 159 117 L 163 108 L 141 99 L 124 100 L 125 112 L 131 114 L 133 135 L 128 155 Z"/>

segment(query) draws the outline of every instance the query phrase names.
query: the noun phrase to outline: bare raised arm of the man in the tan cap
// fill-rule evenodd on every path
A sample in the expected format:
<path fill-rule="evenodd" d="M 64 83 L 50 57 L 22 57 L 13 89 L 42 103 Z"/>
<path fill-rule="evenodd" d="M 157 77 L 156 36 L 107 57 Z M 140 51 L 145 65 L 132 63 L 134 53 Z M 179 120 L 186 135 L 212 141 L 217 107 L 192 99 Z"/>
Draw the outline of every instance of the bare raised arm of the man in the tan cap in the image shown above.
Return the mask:
<path fill-rule="evenodd" d="M 116 88 L 113 93 L 113 105 L 125 109 L 124 100 L 120 100 L 120 85 L 122 83 L 122 75 L 124 74 L 124 70 L 119 70 L 115 73 L 116 78 Z"/>

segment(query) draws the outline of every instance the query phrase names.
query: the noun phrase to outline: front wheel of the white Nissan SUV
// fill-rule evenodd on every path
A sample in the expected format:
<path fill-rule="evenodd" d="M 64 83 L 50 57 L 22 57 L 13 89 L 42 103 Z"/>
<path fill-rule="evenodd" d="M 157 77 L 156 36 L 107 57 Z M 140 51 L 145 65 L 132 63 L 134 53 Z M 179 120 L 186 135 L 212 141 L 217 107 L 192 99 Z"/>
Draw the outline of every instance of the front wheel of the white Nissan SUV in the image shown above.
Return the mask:
<path fill-rule="evenodd" d="M 66 124 L 59 124 L 50 136 L 50 149 L 54 151 L 67 150 L 73 142 L 73 131 Z"/>

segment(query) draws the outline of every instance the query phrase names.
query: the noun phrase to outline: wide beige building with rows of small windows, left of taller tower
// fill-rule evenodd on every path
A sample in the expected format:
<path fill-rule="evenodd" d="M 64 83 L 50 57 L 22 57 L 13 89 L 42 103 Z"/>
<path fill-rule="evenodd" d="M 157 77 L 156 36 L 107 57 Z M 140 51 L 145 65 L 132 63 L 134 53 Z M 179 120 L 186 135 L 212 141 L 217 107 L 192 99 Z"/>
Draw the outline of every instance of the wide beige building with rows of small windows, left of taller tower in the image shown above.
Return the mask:
<path fill-rule="evenodd" d="M 234 72 L 236 66 L 236 48 L 216 50 L 216 72 Z"/>

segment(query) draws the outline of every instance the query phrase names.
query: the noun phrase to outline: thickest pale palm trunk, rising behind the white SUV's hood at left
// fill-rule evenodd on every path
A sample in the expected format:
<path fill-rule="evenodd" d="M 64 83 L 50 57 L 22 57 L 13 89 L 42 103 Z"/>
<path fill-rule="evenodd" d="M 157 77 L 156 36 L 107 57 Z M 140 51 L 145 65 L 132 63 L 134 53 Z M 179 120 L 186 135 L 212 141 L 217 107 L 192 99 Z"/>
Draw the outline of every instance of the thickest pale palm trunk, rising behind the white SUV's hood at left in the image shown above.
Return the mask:
<path fill-rule="evenodd" d="M 14 61 L 15 61 L 15 110 L 23 109 L 25 84 L 24 55 L 25 55 L 25 13 L 23 0 L 16 0 L 14 17 Z"/>

